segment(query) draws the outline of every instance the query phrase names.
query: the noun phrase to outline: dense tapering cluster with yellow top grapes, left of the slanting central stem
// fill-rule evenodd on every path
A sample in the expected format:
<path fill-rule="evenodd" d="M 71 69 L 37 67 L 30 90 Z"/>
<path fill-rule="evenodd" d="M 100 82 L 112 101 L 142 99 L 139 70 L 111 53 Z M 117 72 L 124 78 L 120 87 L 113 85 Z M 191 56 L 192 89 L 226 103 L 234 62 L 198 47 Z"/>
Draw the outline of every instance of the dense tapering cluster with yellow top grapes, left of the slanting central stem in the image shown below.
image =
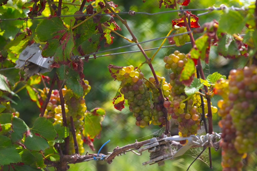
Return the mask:
<path fill-rule="evenodd" d="M 120 91 L 127 99 L 129 109 L 136 118 L 136 125 L 140 127 L 149 126 L 152 122 L 150 93 L 143 78 L 144 74 L 134 70 L 132 65 L 120 69 L 116 77 L 118 81 L 122 81 Z"/>

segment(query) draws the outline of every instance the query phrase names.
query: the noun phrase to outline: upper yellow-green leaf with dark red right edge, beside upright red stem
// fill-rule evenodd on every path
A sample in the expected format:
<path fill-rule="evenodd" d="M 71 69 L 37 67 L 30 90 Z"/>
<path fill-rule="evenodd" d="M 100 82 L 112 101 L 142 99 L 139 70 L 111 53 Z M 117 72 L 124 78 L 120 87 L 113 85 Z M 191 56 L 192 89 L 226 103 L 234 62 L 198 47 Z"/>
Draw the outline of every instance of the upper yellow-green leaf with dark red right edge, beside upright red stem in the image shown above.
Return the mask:
<path fill-rule="evenodd" d="M 209 53 L 210 49 L 210 43 L 208 41 L 207 34 L 204 34 L 203 36 L 199 37 L 195 41 L 195 47 L 191 49 L 190 57 L 192 59 L 198 59 L 199 57 L 201 59 L 206 58 L 206 53 Z"/>

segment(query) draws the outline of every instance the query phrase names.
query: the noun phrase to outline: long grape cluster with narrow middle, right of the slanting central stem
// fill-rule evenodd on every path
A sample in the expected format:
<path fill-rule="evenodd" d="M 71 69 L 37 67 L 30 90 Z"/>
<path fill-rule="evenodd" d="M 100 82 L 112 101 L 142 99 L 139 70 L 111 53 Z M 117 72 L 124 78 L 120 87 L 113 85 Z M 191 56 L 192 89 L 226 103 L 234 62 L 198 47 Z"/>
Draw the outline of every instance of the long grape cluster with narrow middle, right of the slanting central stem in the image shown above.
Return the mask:
<path fill-rule="evenodd" d="M 179 135 L 188 137 L 197 134 L 200 129 L 200 113 L 196 106 L 196 98 L 188 98 L 184 92 L 185 86 L 179 81 L 180 72 L 187 63 L 187 57 L 184 53 L 175 51 L 173 54 L 164 57 L 165 67 L 173 71 L 170 73 L 171 96 L 169 101 L 163 103 L 173 119 L 179 123 Z M 181 142 L 182 144 L 185 141 Z"/>

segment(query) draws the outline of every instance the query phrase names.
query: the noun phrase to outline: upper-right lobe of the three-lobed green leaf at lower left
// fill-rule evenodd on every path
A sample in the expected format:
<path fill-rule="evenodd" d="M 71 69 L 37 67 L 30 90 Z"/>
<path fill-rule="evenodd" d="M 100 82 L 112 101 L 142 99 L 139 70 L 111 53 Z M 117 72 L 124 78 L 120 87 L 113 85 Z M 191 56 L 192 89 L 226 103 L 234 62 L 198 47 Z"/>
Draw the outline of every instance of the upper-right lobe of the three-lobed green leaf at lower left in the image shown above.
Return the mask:
<path fill-rule="evenodd" d="M 47 140 L 54 140 L 57 137 L 57 132 L 54 130 L 53 123 L 45 117 L 36 118 L 31 131 L 33 134 L 38 133 Z"/>

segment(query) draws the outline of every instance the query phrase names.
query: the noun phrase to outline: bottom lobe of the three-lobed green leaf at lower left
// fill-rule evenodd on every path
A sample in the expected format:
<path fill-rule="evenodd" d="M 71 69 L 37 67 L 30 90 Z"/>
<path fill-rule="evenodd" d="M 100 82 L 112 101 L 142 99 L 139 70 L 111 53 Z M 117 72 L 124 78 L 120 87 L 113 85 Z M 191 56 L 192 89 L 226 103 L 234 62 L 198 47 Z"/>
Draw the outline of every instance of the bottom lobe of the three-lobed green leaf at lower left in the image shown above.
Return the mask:
<path fill-rule="evenodd" d="M 35 151 L 40 151 L 40 150 L 49 148 L 49 144 L 47 140 L 45 140 L 40 136 L 36 136 L 34 134 L 30 134 L 29 136 L 26 137 L 24 141 L 24 145 L 26 146 L 27 149 L 35 150 Z"/>

